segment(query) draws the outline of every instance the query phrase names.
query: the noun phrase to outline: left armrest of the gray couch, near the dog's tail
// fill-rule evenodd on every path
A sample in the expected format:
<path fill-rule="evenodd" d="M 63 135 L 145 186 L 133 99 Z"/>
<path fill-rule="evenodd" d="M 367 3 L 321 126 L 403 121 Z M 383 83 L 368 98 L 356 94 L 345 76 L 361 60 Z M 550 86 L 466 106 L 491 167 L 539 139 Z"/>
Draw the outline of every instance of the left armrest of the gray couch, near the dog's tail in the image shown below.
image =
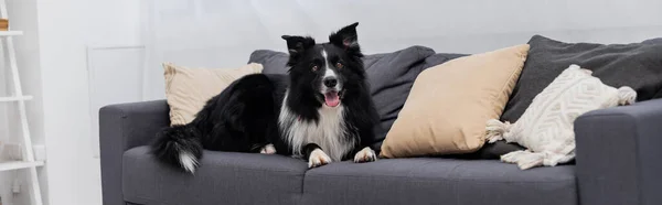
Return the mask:
<path fill-rule="evenodd" d="M 166 100 L 109 105 L 99 110 L 99 145 L 104 205 L 126 204 L 121 192 L 125 151 L 147 145 L 170 125 Z"/>

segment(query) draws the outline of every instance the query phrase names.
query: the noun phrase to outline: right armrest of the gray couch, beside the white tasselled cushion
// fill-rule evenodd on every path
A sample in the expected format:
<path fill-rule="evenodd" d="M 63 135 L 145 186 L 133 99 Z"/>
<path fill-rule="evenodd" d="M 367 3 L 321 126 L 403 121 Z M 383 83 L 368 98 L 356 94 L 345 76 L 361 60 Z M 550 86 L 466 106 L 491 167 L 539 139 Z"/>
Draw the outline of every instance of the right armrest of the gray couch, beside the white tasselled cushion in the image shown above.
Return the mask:
<path fill-rule="evenodd" d="M 662 204 L 662 99 L 585 114 L 575 133 L 580 204 Z"/>

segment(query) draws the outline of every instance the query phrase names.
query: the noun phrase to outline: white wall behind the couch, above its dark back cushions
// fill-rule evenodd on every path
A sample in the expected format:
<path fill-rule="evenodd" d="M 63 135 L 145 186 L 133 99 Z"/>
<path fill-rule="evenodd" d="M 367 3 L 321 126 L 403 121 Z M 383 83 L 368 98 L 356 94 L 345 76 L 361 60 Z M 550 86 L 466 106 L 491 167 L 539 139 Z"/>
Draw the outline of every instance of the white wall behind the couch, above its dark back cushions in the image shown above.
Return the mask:
<path fill-rule="evenodd" d="M 629 43 L 662 36 L 660 0 L 150 0 L 146 98 L 163 95 L 163 61 L 228 67 L 256 48 L 285 51 L 282 34 L 319 42 L 360 22 L 365 53 L 419 44 L 438 53 L 478 53 L 526 43 L 534 34 Z"/>

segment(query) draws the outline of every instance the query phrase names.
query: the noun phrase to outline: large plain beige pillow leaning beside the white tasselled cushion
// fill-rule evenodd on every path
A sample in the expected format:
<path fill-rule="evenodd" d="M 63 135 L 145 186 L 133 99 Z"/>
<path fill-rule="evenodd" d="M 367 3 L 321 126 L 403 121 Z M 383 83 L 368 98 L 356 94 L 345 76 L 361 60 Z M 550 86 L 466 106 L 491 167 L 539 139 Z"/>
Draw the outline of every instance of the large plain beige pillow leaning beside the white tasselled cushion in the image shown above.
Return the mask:
<path fill-rule="evenodd" d="M 528 44 L 474 54 L 430 67 L 416 78 L 382 144 L 383 158 L 469 153 L 485 142 L 485 121 L 499 118 Z"/>

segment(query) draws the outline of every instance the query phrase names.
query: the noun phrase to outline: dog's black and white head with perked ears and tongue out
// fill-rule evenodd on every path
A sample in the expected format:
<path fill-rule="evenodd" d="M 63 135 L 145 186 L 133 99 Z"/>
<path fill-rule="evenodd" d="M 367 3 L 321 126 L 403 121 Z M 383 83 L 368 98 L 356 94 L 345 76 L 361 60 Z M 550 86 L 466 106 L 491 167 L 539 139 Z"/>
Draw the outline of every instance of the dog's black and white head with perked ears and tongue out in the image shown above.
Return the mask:
<path fill-rule="evenodd" d="M 310 36 L 282 35 L 290 56 L 287 63 L 290 89 L 311 93 L 319 102 L 337 107 L 346 90 L 362 86 L 365 71 L 356 25 L 359 23 L 331 33 L 329 42 L 321 44 L 316 44 Z"/>

